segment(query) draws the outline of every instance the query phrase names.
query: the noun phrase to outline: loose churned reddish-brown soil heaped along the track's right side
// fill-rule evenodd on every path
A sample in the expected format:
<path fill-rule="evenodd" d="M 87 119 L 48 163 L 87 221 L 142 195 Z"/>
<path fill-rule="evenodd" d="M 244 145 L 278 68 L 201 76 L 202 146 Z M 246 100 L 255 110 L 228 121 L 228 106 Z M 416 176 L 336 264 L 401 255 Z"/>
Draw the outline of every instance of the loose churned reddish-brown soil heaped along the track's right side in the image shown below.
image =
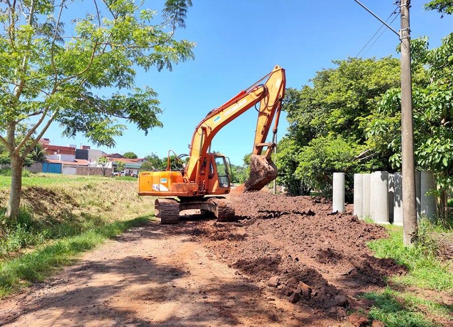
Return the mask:
<path fill-rule="evenodd" d="M 358 293 L 405 272 L 393 259 L 374 258 L 366 246 L 387 237 L 385 228 L 351 212 L 332 213 L 329 201 L 268 192 L 235 193 L 231 200 L 236 223 L 201 222 L 198 237 L 238 274 L 270 280 L 293 303 L 343 315 L 344 307 L 364 305 Z"/>

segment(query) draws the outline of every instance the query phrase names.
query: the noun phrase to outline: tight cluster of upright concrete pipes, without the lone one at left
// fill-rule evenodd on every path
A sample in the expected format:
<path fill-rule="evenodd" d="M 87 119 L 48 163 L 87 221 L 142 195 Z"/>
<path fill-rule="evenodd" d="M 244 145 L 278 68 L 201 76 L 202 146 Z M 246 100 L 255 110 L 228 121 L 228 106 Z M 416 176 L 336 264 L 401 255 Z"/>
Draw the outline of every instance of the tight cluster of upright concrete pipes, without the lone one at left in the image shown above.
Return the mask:
<path fill-rule="evenodd" d="M 402 182 L 401 173 L 354 174 L 354 215 L 359 218 L 370 217 L 380 224 L 393 223 L 402 226 Z M 415 186 L 417 215 L 434 218 L 436 200 L 433 195 L 426 194 L 434 189 L 432 172 L 416 172 Z"/>

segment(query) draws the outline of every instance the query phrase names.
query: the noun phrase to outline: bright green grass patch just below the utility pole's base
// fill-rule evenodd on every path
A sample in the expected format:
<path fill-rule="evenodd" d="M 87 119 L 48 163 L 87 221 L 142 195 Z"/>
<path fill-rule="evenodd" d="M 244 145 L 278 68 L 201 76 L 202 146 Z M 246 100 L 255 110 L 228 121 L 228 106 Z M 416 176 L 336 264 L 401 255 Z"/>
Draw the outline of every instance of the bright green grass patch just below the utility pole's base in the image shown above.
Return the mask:
<path fill-rule="evenodd" d="M 437 291 L 453 289 L 451 262 L 437 259 L 423 244 L 404 247 L 402 227 L 390 225 L 387 228 L 390 237 L 371 241 L 368 247 L 374 251 L 375 257 L 394 258 L 398 264 L 408 268 L 409 273 L 405 276 L 392 278 L 395 284 Z"/>

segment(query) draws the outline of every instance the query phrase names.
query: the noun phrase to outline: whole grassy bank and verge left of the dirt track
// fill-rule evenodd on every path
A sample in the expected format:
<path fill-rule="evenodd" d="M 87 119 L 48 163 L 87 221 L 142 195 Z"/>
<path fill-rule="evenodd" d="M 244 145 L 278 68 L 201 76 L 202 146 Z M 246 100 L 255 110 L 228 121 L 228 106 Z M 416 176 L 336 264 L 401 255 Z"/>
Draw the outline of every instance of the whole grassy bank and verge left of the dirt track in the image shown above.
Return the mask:
<path fill-rule="evenodd" d="M 0 176 L 0 297 L 41 281 L 84 251 L 154 219 L 131 177 L 26 174 L 21 214 L 6 221 L 11 177 Z"/>

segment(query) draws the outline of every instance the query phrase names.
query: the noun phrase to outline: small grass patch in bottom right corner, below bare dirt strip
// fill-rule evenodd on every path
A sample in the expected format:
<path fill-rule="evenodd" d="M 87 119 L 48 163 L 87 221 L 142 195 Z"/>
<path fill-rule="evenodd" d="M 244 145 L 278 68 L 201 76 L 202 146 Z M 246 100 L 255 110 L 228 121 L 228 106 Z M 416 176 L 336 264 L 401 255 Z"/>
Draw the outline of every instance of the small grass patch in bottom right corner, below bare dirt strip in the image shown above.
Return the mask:
<path fill-rule="evenodd" d="M 368 316 L 384 322 L 388 327 L 440 326 L 432 317 L 448 320 L 453 309 L 451 306 L 400 293 L 389 287 L 382 292 L 366 293 L 363 297 L 374 301 Z M 428 317 L 427 313 L 432 317 Z"/>

